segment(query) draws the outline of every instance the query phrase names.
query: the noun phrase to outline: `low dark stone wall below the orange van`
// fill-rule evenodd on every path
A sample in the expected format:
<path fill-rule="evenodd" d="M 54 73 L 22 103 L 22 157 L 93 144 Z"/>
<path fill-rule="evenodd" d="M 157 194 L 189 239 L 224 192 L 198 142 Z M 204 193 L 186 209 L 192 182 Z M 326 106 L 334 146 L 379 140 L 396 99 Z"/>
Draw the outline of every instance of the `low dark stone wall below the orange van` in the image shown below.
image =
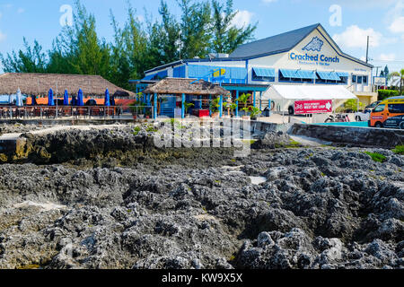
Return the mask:
<path fill-rule="evenodd" d="M 288 133 L 356 146 L 393 148 L 404 143 L 404 130 L 396 129 L 294 124 Z"/>

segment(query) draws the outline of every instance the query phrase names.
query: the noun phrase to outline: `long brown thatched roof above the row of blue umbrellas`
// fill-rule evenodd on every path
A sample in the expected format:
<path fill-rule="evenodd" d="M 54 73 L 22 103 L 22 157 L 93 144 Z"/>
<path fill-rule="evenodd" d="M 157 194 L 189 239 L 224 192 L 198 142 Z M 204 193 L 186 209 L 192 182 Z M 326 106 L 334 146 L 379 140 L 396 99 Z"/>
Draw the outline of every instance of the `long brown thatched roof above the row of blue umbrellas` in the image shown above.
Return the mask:
<path fill-rule="evenodd" d="M 48 95 L 49 89 L 63 94 L 65 90 L 74 95 L 83 90 L 85 96 L 101 96 L 109 89 L 116 97 L 135 96 L 132 91 L 119 88 L 100 75 L 86 74 L 0 74 L 0 94 L 14 94 L 18 89 L 25 95 Z"/>

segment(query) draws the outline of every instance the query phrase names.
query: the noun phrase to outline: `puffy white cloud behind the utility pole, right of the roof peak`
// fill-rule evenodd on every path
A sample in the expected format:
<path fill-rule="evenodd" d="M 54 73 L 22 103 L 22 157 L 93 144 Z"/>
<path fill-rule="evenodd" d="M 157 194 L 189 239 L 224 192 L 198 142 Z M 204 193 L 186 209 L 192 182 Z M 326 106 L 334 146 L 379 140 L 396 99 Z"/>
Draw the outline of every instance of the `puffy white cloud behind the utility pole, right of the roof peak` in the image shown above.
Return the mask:
<path fill-rule="evenodd" d="M 365 48 L 367 36 L 370 36 L 369 46 L 379 47 L 382 44 L 397 43 L 396 38 L 385 38 L 382 33 L 373 30 L 373 28 L 361 29 L 356 25 L 347 27 L 347 30 L 340 34 L 335 34 L 334 39 L 338 45 L 346 48 Z"/>

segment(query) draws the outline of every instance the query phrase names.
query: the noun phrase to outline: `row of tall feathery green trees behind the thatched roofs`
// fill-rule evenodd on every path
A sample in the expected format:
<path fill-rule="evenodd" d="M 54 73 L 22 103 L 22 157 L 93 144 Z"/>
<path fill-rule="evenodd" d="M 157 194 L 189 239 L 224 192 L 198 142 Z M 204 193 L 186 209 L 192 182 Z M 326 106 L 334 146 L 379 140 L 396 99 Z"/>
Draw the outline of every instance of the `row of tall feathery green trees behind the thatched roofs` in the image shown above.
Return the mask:
<path fill-rule="evenodd" d="M 171 4 L 171 1 L 170 1 Z M 75 1 L 74 25 L 66 26 L 45 51 L 37 40 L 24 48 L 0 54 L 4 72 L 99 74 L 123 88 L 129 79 L 140 79 L 144 71 L 180 58 L 209 57 L 210 53 L 232 53 L 253 38 L 257 25 L 237 28 L 233 0 L 177 0 L 177 17 L 161 0 L 158 19 L 146 12 L 145 21 L 127 2 L 123 25 L 110 11 L 114 30 L 109 42 L 99 36 L 96 19 L 79 0 Z"/>

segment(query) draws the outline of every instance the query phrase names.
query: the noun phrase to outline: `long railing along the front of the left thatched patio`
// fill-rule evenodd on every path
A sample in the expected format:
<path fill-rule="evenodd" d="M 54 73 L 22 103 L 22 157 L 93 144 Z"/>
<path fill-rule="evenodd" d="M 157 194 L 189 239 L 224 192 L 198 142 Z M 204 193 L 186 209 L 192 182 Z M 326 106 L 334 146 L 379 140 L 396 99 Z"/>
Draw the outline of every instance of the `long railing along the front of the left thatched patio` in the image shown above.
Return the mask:
<path fill-rule="evenodd" d="M 1 119 L 152 118 L 153 112 L 153 107 L 144 106 L 0 106 Z"/>

